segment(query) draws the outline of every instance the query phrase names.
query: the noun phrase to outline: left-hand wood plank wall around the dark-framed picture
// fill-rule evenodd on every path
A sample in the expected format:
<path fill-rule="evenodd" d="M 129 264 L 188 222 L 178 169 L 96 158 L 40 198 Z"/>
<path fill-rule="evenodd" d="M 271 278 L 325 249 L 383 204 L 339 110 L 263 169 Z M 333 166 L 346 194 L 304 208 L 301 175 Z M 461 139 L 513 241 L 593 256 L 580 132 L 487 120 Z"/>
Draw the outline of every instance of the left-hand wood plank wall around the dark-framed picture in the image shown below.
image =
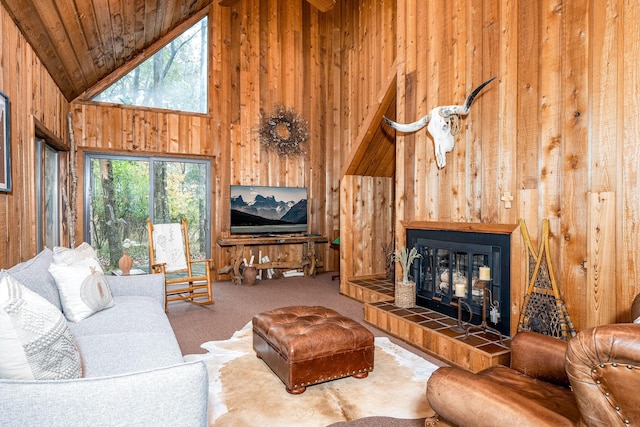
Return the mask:
<path fill-rule="evenodd" d="M 0 193 L 0 267 L 9 268 L 36 253 L 36 126 L 68 141 L 69 107 L 4 6 L 0 34 L 0 91 L 10 103 L 13 184 L 11 192 Z"/>

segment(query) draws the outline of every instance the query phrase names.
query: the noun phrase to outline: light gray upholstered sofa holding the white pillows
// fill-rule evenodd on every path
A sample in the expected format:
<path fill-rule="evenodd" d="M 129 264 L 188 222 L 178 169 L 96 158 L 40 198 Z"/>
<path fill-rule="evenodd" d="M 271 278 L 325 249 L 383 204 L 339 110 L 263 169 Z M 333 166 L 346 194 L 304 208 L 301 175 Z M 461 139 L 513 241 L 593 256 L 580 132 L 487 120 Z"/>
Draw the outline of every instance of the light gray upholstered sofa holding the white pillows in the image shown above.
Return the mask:
<path fill-rule="evenodd" d="M 45 249 L 8 274 L 60 308 L 47 270 L 52 256 Z M 207 424 L 206 366 L 184 362 L 164 313 L 163 276 L 107 280 L 115 305 L 68 323 L 80 351 L 83 378 L 0 379 L 1 425 Z"/>

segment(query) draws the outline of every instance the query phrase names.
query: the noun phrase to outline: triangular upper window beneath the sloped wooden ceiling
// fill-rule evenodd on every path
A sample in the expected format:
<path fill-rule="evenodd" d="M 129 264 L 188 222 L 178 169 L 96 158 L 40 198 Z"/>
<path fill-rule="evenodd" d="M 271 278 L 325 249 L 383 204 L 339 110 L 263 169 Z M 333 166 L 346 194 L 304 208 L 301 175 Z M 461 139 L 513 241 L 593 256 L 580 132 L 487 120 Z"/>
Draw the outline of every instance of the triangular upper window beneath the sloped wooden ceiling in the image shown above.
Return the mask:
<path fill-rule="evenodd" d="M 93 100 L 207 113 L 208 45 L 204 17 Z"/>

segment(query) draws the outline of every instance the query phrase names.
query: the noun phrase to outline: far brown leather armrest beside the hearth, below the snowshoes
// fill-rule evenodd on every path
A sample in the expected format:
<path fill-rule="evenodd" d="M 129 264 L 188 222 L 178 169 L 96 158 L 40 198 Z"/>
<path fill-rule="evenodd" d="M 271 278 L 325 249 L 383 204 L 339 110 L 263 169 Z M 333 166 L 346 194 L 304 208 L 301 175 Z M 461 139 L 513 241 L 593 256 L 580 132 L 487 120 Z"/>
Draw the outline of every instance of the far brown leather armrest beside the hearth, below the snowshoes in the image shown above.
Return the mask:
<path fill-rule="evenodd" d="M 511 369 L 542 381 L 569 385 L 565 370 L 567 342 L 536 332 L 517 333 L 511 341 Z"/>

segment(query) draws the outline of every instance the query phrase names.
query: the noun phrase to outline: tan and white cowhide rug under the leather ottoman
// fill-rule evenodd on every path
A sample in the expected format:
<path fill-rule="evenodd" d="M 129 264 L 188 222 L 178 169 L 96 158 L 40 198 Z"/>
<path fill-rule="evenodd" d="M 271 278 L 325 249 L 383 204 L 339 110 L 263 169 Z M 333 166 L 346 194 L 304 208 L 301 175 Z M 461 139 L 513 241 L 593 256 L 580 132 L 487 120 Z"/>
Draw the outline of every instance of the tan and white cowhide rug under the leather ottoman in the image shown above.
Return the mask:
<path fill-rule="evenodd" d="M 258 359 L 251 324 L 229 340 L 202 344 L 209 371 L 209 425 L 327 426 L 369 416 L 415 419 L 433 414 L 425 396 L 426 382 L 437 366 L 376 338 L 374 370 L 367 378 L 342 378 L 307 387 L 300 395 Z"/>

